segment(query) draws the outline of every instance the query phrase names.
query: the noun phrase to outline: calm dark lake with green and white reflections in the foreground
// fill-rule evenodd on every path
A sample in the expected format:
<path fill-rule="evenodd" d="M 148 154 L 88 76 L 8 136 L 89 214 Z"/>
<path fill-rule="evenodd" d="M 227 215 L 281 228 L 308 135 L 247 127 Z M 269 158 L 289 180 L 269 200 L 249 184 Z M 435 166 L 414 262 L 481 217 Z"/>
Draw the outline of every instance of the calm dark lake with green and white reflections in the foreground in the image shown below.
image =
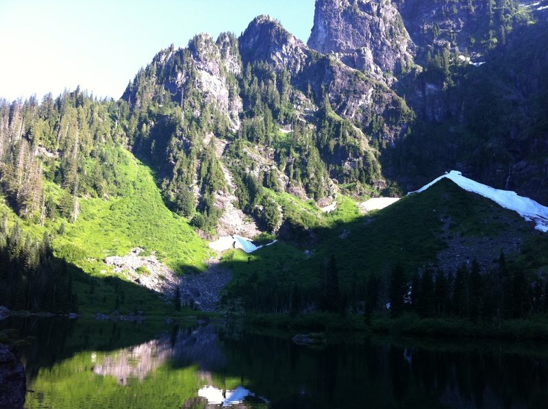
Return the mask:
<path fill-rule="evenodd" d="M 27 408 L 548 408 L 548 346 L 294 345 L 231 327 L 12 320 Z M 239 405 L 239 406 L 238 406 Z"/>

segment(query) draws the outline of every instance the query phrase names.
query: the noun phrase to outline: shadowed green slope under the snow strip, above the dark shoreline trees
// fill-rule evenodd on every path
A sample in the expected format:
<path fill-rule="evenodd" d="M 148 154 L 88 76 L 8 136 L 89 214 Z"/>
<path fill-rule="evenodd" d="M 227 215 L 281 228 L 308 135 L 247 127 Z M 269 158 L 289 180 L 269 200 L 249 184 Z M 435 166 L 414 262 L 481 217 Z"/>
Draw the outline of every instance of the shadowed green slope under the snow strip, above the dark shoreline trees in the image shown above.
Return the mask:
<path fill-rule="evenodd" d="M 539 236 L 532 223 L 449 179 L 367 216 L 350 216 L 348 208 L 344 213 L 345 221 L 316 230 L 316 243 L 308 248 L 277 244 L 252 255 L 225 253 L 222 262 L 234 271 L 229 296 L 253 303 L 266 297 L 262 290 L 269 292 L 273 286 L 273 297 L 288 299 L 295 287 L 313 293 L 332 255 L 340 288 L 351 293 L 369 275 L 384 275 L 395 264 L 401 264 L 409 276 L 425 265 L 437 265 L 438 253 L 455 240 L 477 239 L 497 253 L 499 240 L 510 235 L 521 237 L 525 249 L 536 246 L 536 251 L 548 251 L 548 240 Z M 530 271 L 542 267 L 543 258 L 536 262 L 531 251 L 519 257 L 526 258 Z"/>

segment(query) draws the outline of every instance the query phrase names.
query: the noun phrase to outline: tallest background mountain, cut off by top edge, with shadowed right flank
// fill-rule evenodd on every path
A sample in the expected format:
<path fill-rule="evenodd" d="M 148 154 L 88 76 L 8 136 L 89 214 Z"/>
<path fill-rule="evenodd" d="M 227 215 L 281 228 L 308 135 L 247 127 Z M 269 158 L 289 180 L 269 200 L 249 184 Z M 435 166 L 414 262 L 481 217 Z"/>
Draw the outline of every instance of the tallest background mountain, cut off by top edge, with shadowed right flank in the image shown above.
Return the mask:
<path fill-rule="evenodd" d="M 536 104 L 545 100 L 536 71 L 545 69 L 545 47 L 523 50 L 546 42 L 542 8 L 506 0 L 318 1 L 308 44 L 366 75 L 378 78 L 381 67 L 381 80 L 413 110 L 409 137 L 380 157 L 382 173 L 404 190 L 461 169 L 547 203 Z M 356 63 L 365 54 L 377 68 Z M 405 61 L 406 69 L 388 61 Z"/>

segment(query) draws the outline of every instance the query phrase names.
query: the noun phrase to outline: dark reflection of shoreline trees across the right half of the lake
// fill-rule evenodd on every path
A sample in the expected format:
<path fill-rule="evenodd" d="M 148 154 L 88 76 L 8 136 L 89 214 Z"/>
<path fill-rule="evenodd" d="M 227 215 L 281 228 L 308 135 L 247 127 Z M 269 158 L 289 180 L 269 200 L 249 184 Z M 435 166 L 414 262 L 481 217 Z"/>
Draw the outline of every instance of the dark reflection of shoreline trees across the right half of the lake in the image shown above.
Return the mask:
<path fill-rule="evenodd" d="M 492 347 L 443 349 L 387 342 L 324 349 L 247 334 L 221 338 L 227 375 L 249 380 L 272 407 L 547 407 L 548 359 Z"/>

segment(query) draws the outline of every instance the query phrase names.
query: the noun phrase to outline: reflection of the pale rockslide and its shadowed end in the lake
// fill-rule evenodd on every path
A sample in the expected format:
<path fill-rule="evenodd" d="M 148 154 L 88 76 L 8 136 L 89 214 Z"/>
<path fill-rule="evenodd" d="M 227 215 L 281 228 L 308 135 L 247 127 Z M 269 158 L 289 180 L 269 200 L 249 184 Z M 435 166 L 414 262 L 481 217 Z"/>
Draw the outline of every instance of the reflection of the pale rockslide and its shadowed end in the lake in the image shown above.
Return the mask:
<path fill-rule="evenodd" d="M 114 376 L 120 384 L 129 378 L 139 380 L 166 362 L 186 366 L 197 364 L 202 371 L 220 369 L 225 356 L 217 346 L 215 330 L 210 325 L 178 330 L 140 345 L 120 349 L 94 365 L 97 375 Z M 207 373 L 204 373 L 207 376 Z"/>

